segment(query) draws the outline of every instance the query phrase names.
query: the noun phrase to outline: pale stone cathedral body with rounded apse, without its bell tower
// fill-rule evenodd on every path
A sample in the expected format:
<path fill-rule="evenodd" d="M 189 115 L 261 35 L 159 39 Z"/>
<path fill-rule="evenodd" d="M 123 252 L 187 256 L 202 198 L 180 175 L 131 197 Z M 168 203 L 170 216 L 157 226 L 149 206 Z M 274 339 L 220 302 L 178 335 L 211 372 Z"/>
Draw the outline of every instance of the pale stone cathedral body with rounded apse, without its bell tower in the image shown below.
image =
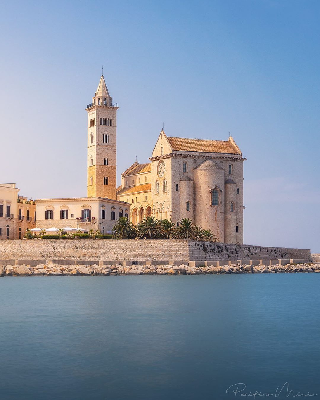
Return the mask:
<path fill-rule="evenodd" d="M 122 174 L 117 199 L 130 201 L 133 224 L 151 210 L 158 219 L 191 218 L 219 242 L 242 244 L 244 160 L 231 136 L 228 141 L 169 138 L 162 131 L 151 163 L 136 162 Z M 148 186 L 137 181 L 140 175 Z"/>

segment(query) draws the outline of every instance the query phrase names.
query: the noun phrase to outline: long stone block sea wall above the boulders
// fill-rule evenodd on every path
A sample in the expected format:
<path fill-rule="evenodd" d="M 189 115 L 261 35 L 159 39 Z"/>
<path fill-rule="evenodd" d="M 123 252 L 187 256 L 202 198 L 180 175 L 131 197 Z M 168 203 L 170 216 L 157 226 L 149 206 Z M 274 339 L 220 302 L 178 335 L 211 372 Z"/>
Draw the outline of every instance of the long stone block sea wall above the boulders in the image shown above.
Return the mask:
<path fill-rule="evenodd" d="M 195 240 L 16 239 L 0 241 L 0 264 L 14 260 L 222 261 L 310 260 L 310 250 Z"/>

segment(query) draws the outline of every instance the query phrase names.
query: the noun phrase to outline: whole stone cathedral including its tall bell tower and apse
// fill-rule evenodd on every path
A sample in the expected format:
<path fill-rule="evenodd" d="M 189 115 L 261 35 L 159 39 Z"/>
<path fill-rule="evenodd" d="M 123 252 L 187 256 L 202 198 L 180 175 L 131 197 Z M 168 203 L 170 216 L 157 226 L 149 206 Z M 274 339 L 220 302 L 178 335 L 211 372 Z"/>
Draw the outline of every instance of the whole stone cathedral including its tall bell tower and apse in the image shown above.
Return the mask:
<path fill-rule="evenodd" d="M 162 130 L 150 162 L 134 162 L 116 188 L 116 113 L 104 76 L 88 112 L 88 197 L 130 204 L 135 225 L 146 216 L 191 218 L 219 242 L 243 244 L 242 152 L 228 140 L 166 136 Z M 130 157 L 130 155 L 128 155 Z"/>

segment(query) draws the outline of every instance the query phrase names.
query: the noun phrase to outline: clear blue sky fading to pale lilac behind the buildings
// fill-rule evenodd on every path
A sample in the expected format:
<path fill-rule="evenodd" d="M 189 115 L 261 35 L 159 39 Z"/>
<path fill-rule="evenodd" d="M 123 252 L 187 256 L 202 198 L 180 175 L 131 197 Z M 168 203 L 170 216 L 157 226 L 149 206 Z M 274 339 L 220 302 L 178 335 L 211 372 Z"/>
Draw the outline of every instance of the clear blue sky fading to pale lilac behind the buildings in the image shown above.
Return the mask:
<path fill-rule="evenodd" d="M 1 182 L 86 196 L 86 105 L 104 65 L 118 183 L 168 136 L 244 163 L 244 242 L 320 251 L 318 1 L 2 2 Z"/>

